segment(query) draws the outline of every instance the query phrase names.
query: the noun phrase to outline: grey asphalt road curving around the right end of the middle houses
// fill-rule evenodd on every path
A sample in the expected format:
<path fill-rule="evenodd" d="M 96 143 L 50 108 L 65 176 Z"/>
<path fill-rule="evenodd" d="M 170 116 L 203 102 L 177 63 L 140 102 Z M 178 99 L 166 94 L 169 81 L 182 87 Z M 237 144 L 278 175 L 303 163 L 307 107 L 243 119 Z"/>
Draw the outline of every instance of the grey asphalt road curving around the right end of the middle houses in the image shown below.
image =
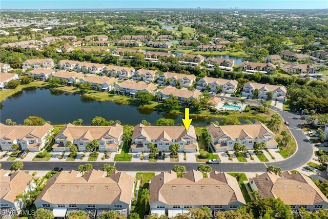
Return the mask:
<path fill-rule="evenodd" d="M 225 97 L 227 99 L 234 99 L 233 97 Z M 247 100 L 247 103 L 254 103 L 254 101 Z M 290 123 L 290 131 L 292 132 L 296 142 L 297 151 L 290 158 L 280 161 L 271 162 L 269 165 L 280 167 L 282 170 L 293 170 L 308 163 L 313 155 L 313 146 L 310 144 L 308 138 L 300 129 L 300 125 L 304 120 L 300 119 L 300 115 L 296 115 L 287 111 L 272 107 L 277 113 L 281 115 L 284 121 Z M 65 170 L 77 169 L 78 165 L 92 163 L 92 162 L 24 162 L 23 170 L 51 170 L 56 166 L 63 167 Z M 102 169 L 105 162 L 92 163 L 95 169 Z M 3 169 L 9 169 L 12 162 L 2 162 Z M 110 163 L 114 165 L 114 163 Z M 120 171 L 169 171 L 172 170 L 173 165 L 180 164 L 187 167 L 187 170 L 197 169 L 199 163 L 131 163 L 131 162 L 116 162 L 115 167 Z M 212 169 L 222 172 L 265 172 L 266 166 L 264 163 L 221 163 L 219 165 L 212 165 Z"/>

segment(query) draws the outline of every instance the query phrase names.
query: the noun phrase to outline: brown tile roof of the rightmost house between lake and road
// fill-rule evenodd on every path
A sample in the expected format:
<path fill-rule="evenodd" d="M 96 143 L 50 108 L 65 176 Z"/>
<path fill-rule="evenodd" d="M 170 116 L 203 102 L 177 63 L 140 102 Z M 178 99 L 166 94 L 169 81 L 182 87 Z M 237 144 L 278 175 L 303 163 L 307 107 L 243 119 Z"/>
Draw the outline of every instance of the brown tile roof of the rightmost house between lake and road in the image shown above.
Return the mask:
<path fill-rule="evenodd" d="M 211 124 L 207 128 L 211 133 L 212 137 L 214 138 L 220 136 L 222 137 L 228 136 L 231 139 L 239 138 L 240 140 L 243 140 L 247 136 L 252 138 L 255 137 L 268 138 L 268 137 L 275 136 L 275 134 L 267 126 L 265 126 L 260 122 L 251 125 L 230 125 L 230 126 L 217 126 L 215 124 Z"/>

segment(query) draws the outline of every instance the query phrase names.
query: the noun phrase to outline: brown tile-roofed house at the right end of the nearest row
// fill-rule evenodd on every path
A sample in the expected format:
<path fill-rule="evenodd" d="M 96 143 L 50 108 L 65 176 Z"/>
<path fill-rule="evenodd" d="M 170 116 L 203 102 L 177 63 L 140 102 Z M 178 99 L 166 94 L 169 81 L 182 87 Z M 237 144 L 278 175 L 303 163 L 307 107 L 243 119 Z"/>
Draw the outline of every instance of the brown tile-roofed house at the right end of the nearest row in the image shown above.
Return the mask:
<path fill-rule="evenodd" d="M 260 197 L 280 198 L 292 210 L 319 210 L 328 208 L 328 199 L 310 177 L 299 172 L 285 171 L 279 177 L 273 172 L 265 172 L 250 178 L 253 190 L 258 190 Z"/>

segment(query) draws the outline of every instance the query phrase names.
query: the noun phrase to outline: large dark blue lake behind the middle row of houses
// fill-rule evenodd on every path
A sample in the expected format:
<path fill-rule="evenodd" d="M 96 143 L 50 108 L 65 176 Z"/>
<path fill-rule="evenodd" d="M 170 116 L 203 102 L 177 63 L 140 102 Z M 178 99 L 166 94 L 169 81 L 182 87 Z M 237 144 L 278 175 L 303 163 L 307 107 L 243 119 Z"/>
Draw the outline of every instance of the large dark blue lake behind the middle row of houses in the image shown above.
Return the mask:
<path fill-rule="evenodd" d="M 132 105 L 120 105 L 114 102 L 98 102 L 92 98 L 61 91 L 29 88 L 1 103 L 1 123 L 6 123 L 7 118 L 17 124 L 23 124 L 25 118 L 36 115 L 50 121 L 51 124 L 71 123 L 82 118 L 84 125 L 89 125 L 94 116 L 101 116 L 106 120 L 119 120 L 122 124 L 136 125 L 142 120 L 154 124 L 159 118 L 172 118 L 175 124 L 182 124 L 182 115 L 171 115 L 153 110 L 140 110 Z M 206 118 L 194 118 L 192 125 L 206 126 L 212 121 Z M 241 123 L 244 120 L 240 119 Z"/>

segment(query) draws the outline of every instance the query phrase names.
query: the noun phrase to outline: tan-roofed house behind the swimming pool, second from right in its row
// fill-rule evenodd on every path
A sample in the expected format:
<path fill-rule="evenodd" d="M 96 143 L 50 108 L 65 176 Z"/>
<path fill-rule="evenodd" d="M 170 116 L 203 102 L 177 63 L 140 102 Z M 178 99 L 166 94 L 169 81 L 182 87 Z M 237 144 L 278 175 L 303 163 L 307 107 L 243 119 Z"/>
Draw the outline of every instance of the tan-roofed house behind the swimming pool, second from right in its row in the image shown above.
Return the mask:
<path fill-rule="evenodd" d="M 198 81 L 196 88 L 198 90 L 206 90 L 208 89 L 208 86 L 210 86 L 211 91 L 218 92 L 220 90 L 219 87 L 222 87 L 222 93 L 233 93 L 237 89 L 237 85 L 238 82 L 236 80 L 203 77 Z"/>

